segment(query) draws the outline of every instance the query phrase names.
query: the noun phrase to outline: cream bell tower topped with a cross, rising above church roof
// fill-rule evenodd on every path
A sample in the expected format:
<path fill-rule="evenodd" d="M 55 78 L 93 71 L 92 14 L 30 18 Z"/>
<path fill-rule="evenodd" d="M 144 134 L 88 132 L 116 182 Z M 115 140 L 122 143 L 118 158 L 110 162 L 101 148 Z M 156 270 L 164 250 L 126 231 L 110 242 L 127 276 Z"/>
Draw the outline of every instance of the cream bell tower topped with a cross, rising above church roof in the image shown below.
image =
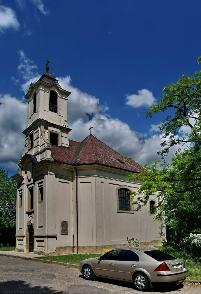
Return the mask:
<path fill-rule="evenodd" d="M 23 155 L 35 155 L 37 160 L 51 159 L 51 145 L 68 147 L 67 98 L 71 94 L 61 88 L 58 80 L 46 72 L 33 84 L 25 98 L 28 100 L 27 128 Z"/>

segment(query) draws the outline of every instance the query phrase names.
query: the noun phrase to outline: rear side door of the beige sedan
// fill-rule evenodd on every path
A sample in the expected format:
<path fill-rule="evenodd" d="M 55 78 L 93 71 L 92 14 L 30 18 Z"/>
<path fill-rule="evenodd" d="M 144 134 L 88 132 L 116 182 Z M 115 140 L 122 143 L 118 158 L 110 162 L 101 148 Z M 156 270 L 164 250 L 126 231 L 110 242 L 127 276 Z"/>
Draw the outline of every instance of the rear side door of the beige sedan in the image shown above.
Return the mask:
<path fill-rule="evenodd" d="M 131 280 L 132 273 L 138 268 L 139 256 L 129 249 L 123 250 L 120 260 L 115 263 L 115 278 Z"/>

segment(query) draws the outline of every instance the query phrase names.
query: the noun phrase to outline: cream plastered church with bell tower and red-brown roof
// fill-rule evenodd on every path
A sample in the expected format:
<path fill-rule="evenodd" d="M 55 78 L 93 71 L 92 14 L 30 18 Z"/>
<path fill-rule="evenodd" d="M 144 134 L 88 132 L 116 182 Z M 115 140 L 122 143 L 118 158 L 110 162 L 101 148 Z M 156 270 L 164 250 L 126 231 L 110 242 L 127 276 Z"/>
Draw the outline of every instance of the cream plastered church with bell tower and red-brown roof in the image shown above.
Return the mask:
<path fill-rule="evenodd" d="M 42 255 L 101 253 L 126 238 L 161 245 L 153 221 L 156 195 L 135 212 L 126 181 L 143 168 L 91 134 L 69 139 L 67 101 L 71 93 L 46 72 L 33 84 L 28 100 L 25 145 L 17 181 L 16 251 Z M 70 98 L 69 98 L 70 99 Z"/>

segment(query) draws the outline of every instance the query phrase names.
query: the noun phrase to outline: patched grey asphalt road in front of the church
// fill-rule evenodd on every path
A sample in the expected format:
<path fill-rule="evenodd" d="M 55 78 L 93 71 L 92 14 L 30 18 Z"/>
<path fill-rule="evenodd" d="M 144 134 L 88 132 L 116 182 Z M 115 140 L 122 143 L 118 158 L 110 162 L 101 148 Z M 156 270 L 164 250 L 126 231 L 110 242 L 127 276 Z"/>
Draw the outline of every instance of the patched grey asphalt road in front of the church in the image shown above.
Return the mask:
<path fill-rule="evenodd" d="M 157 286 L 152 293 L 200 294 L 201 287 Z M 78 268 L 0 256 L 0 294 L 134 294 L 131 283 L 96 278 L 86 281 Z"/>

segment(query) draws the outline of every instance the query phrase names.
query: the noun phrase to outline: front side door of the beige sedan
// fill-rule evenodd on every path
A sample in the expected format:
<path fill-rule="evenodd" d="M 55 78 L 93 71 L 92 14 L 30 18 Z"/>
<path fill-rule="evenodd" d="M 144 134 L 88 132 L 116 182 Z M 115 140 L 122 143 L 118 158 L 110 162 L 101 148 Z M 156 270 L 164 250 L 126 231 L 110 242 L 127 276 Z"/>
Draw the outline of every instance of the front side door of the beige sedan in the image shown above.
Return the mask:
<path fill-rule="evenodd" d="M 97 259 L 94 264 L 94 274 L 107 278 L 115 278 L 114 267 L 119 260 L 121 249 L 111 250 Z"/>

